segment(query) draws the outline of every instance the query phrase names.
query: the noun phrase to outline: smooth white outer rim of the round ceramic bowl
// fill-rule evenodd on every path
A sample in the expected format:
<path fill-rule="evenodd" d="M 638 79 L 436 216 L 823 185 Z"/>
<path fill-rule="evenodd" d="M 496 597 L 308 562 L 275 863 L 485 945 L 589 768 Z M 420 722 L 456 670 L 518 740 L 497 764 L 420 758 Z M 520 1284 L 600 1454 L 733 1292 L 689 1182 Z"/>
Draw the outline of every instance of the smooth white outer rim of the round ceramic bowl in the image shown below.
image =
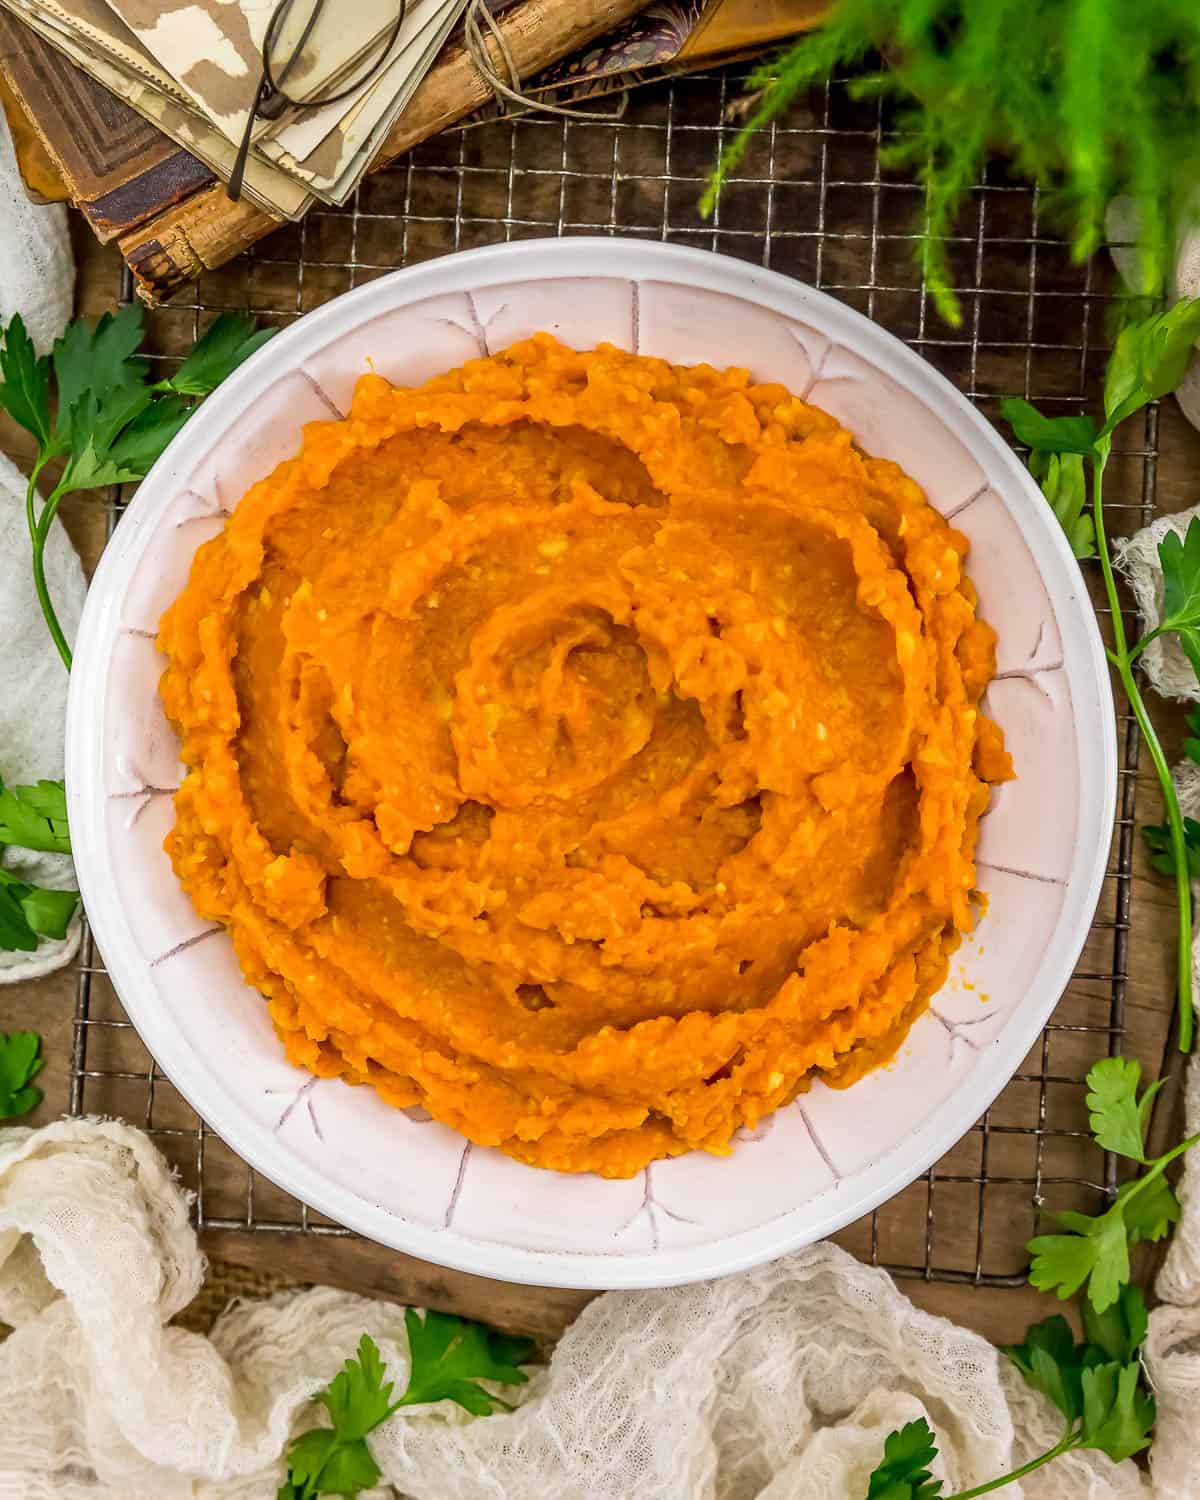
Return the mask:
<path fill-rule="evenodd" d="M 324 348 L 330 342 L 332 326 L 345 320 L 351 308 L 360 314 L 357 321 L 363 321 L 372 309 L 393 310 L 446 292 L 560 278 L 618 278 L 634 284 L 664 279 L 698 291 L 728 291 L 778 316 L 810 322 L 816 318 L 822 327 L 840 327 L 849 334 L 850 348 L 868 348 L 870 362 L 878 369 L 904 386 L 924 405 L 939 411 L 969 442 L 972 452 L 982 452 L 1012 486 L 1023 489 L 1030 498 L 1028 514 L 1017 514 L 1000 496 L 1030 552 L 1036 555 L 1062 634 L 1064 662 L 1074 660 L 1076 670 L 1089 690 L 1086 708 L 1076 704 L 1076 718 L 1080 723 L 1080 820 L 1062 912 L 1035 982 L 980 1064 L 963 1078 L 963 1086 L 882 1156 L 840 1180 L 836 1191 L 822 1194 L 825 1202 L 818 1214 L 801 1206 L 726 1238 L 628 1256 L 524 1250 L 477 1239 L 454 1228 L 435 1230 L 370 1203 L 357 1191 L 342 1188 L 309 1167 L 268 1131 L 264 1132 L 226 1080 L 202 1065 L 202 1059 L 171 1023 L 170 1012 L 162 1008 L 150 982 L 148 963 L 135 946 L 129 915 L 117 897 L 116 884 L 106 874 L 106 798 L 100 766 L 108 663 L 122 630 L 123 588 L 154 530 L 156 495 L 174 486 L 174 471 L 184 456 L 200 456 L 212 448 L 213 441 L 236 424 L 248 399 L 252 399 L 255 386 L 280 368 L 302 366 L 308 354 Z M 1077 608 L 1080 603 L 1083 608 Z M 1076 693 L 1078 684 L 1072 680 L 1071 686 Z M 1094 728 L 1086 723 L 1088 718 L 1098 718 L 1104 734 L 1084 734 L 1084 728 Z M 992 423 L 920 354 L 826 292 L 780 272 L 711 250 L 626 236 L 548 237 L 460 250 L 399 268 L 344 292 L 280 330 L 201 404 L 141 482 L 105 548 L 88 590 L 76 633 L 66 716 L 68 813 L 84 909 L 117 994 L 172 1086 L 206 1125 L 254 1170 L 336 1222 L 435 1264 L 546 1287 L 662 1287 L 747 1269 L 824 1239 L 872 1212 L 950 1150 L 1008 1084 L 1070 982 L 1107 872 L 1116 783 L 1113 693 L 1095 610 L 1062 530 L 1028 470 Z M 1036 1004 L 1030 1004 L 1030 994 L 1038 994 Z M 802 1224 L 796 1222 L 798 1215 L 804 1215 Z"/>

